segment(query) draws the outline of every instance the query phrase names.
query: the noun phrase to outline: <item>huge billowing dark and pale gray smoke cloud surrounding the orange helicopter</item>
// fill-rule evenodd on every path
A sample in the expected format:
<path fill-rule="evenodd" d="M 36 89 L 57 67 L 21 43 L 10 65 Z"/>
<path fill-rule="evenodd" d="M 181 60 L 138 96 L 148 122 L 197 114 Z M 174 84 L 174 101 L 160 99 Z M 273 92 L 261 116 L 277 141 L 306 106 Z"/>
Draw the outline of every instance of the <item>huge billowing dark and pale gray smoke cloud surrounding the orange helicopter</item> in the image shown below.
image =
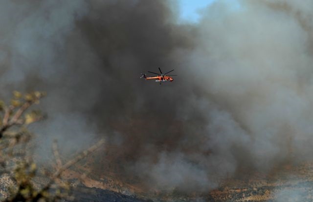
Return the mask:
<path fill-rule="evenodd" d="M 121 175 L 161 188 L 310 158 L 311 1 L 227 2 L 179 24 L 167 0 L 1 1 L 1 95 L 47 91 L 40 151 L 105 137 Z M 157 67 L 179 77 L 139 79 Z"/>

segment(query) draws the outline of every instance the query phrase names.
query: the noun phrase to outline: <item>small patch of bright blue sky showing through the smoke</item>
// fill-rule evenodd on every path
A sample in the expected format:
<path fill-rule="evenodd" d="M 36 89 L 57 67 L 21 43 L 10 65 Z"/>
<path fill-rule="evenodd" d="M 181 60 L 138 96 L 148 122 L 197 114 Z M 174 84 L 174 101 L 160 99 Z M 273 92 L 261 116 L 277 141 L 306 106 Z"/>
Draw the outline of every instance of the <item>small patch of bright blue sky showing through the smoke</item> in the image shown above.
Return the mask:
<path fill-rule="evenodd" d="M 215 0 L 178 0 L 181 20 L 197 22 L 200 17 L 197 14 L 197 10 L 206 7 L 214 1 Z"/>

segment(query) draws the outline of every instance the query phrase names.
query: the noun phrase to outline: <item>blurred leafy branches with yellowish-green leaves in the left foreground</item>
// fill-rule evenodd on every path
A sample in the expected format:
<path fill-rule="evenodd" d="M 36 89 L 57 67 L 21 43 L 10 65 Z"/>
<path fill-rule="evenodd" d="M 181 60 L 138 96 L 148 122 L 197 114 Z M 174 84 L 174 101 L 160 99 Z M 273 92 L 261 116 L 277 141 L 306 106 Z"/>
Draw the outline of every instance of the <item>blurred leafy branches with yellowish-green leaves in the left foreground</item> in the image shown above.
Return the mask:
<path fill-rule="evenodd" d="M 38 167 L 33 159 L 33 138 L 27 126 L 45 119 L 39 110 L 30 110 L 45 97 L 44 92 L 23 95 L 13 92 L 10 104 L 0 101 L 0 194 L 5 202 L 55 202 L 73 199 L 70 186 L 61 174 L 74 163 L 96 150 L 103 140 L 75 158 L 63 163 L 54 141 L 55 166 Z M 41 179 L 41 180 L 40 180 Z"/>

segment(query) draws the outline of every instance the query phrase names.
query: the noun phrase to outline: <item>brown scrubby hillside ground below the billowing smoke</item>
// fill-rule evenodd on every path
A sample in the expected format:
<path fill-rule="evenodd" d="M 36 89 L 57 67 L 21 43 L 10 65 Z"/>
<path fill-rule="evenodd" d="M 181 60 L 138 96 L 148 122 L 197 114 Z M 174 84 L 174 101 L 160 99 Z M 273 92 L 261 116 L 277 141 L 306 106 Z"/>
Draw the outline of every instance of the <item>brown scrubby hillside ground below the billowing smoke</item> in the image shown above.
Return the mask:
<path fill-rule="evenodd" d="M 110 145 L 105 148 L 114 150 Z M 292 164 L 285 162 L 267 172 L 252 168 L 238 170 L 235 176 L 221 182 L 221 186 L 207 192 L 158 190 L 141 182 L 138 176 L 127 175 L 124 162 L 114 161 L 116 155 L 98 149 L 86 159 L 67 169 L 62 178 L 74 187 L 77 202 L 311 202 L 313 201 L 313 162 Z M 122 158 L 122 156 L 121 156 Z M 291 161 L 293 162 L 293 161 Z M 97 165 L 97 166 L 96 166 Z M 45 184 L 44 178 L 34 179 Z M 12 185 L 7 175 L 0 176 L 0 195 L 6 196 Z"/>

